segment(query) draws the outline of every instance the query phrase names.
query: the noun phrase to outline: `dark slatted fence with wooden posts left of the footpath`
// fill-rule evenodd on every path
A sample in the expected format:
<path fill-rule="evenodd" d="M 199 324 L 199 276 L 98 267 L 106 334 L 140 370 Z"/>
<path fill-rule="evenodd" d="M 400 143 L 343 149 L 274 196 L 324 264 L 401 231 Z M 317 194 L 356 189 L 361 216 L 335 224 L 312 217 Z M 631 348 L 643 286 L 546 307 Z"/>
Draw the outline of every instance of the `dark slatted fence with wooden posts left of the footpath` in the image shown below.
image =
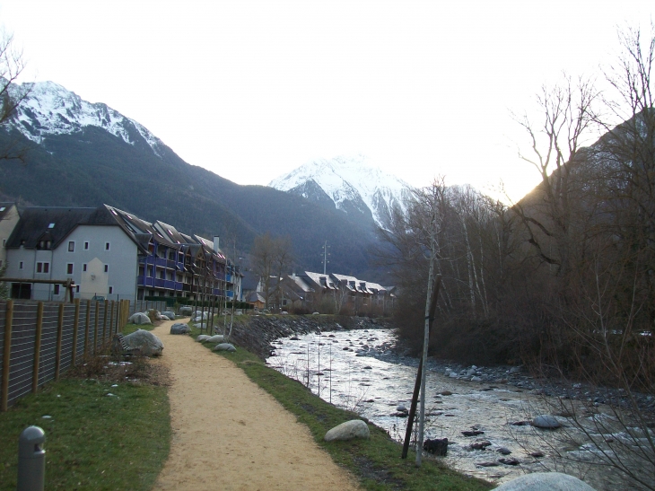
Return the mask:
<path fill-rule="evenodd" d="M 109 343 L 129 303 L 0 301 L 0 411 Z"/>

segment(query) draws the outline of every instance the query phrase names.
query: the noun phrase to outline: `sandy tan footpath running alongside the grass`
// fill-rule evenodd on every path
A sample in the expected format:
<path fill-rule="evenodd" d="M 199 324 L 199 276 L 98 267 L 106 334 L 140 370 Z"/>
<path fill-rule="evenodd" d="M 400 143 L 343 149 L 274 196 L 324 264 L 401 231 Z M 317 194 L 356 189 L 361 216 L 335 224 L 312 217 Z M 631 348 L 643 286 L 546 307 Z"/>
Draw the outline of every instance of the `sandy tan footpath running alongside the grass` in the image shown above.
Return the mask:
<path fill-rule="evenodd" d="M 154 489 L 357 489 L 266 391 L 188 336 L 153 329 L 170 370 L 170 456 Z"/>

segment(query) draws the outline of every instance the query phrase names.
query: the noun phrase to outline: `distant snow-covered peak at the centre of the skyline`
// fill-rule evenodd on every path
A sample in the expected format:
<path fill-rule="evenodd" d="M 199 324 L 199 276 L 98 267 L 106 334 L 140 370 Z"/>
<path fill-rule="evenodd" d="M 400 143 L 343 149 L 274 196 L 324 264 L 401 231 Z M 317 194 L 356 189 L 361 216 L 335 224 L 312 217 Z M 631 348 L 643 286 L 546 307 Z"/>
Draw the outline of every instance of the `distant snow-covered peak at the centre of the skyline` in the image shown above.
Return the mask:
<path fill-rule="evenodd" d="M 372 167 L 362 155 L 308 162 L 268 186 L 336 206 L 353 218 L 368 217 L 381 227 L 389 224 L 393 208 L 406 211 L 411 193 L 409 184 Z"/>

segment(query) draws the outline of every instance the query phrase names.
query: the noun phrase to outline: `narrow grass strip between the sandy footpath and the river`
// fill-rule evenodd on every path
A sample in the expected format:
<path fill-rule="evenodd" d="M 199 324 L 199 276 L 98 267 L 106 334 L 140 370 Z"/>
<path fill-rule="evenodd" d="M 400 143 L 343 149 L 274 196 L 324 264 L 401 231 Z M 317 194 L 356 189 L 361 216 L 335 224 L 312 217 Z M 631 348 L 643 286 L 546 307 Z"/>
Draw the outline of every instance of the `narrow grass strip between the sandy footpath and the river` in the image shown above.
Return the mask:
<path fill-rule="evenodd" d="M 192 328 L 194 338 L 198 329 Z M 213 347 L 214 345 L 205 345 Z M 269 368 L 256 355 L 243 348 L 236 353 L 220 352 L 242 369 L 252 381 L 270 393 L 302 424 L 310 428 L 316 443 L 323 447 L 337 464 L 350 470 L 364 489 L 440 491 L 490 489 L 485 481 L 467 478 L 440 462 L 424 459 L 420 469 L 415 467 L 415 452 L 409 452 L 406 460 L 400 459 L 402 446 L 394 442 L 384 430 L 369 424 L 370 440 L 327 443 L 323 437 L 330 428 L 350 419 L 359 419 L 355 413 L 345 411 L 315 396 L 299 381 L 293 381 L 282 373 Z"/>

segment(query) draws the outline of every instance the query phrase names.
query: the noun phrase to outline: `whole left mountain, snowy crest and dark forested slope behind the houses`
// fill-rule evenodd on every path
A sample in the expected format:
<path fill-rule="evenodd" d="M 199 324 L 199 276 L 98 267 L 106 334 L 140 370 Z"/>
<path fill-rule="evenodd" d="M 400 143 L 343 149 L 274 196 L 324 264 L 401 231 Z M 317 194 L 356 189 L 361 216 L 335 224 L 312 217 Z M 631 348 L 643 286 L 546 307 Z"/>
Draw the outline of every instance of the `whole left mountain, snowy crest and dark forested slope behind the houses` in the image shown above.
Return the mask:
<path fill-rule="evenodd" d="M 39 206 L 107 203 L 205 236 L 236 236 L 248 250 L 264 232 L 292 237 L 299 267 L 366 271 L 373 235 L 336 210 L 264 186 L 240 186 L 184 162 L 135 121 L 80 100 L 55 83 L 37 83 L 25 106 L 0 128 L 0 146 L 27 148 L 27 162 L 0 162 L 0 193 Z M 225 162 L 230 165 L 230 162 Z M 374 280 L 374 278 L 371 278 Z"/>

